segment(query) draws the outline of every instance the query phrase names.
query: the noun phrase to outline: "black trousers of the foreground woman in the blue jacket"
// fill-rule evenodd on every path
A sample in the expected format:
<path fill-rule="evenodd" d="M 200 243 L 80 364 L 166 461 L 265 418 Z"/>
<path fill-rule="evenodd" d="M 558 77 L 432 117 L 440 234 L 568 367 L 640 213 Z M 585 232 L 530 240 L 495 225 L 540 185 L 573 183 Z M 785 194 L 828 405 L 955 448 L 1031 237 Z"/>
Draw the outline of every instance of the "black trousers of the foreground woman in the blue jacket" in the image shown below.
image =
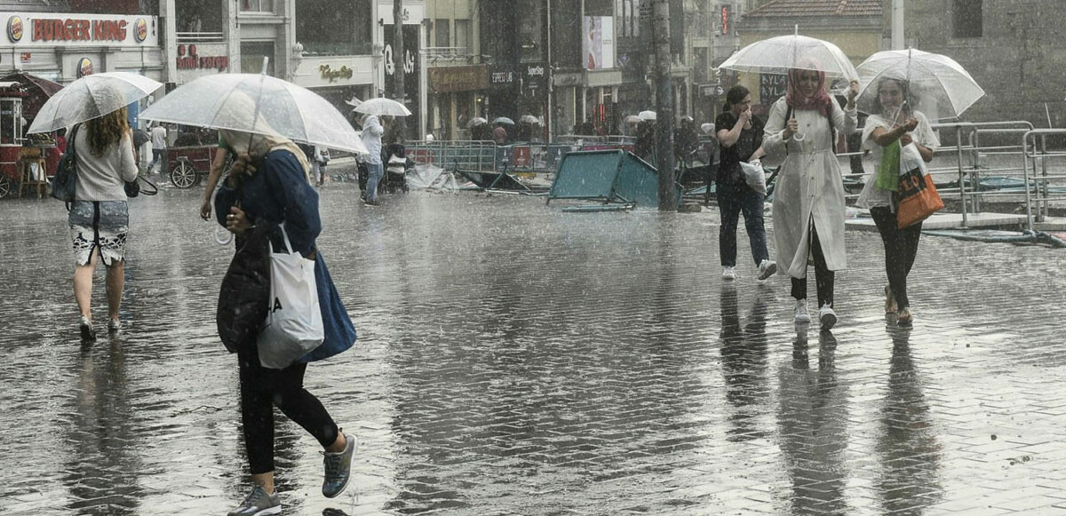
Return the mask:
<path fill-rule="evenodd" d="M 304 389 L 306 364 L 268 369 L 255 350 L 237 355 L 241 378 L 241 419 L 252 474 L 274 470 L 274 405 L 319 440 L 323 448 L 337 440 L 337 423 L 322 403 Z"/>

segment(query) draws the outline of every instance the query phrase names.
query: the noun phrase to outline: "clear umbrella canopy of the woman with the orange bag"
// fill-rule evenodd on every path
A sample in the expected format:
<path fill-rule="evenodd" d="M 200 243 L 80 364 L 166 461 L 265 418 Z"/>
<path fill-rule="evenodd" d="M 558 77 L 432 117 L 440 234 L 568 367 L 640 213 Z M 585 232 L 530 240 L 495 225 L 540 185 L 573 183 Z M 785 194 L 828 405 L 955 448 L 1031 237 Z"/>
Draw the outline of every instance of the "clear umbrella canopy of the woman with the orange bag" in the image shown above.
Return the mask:
<path fill-rule="evenodd" d="M 908 84 L 904 99 L 928 119 L 956 118 L 973 106 L 985 91 L 953 59 L 921 50 L 877 52 L 858 66 L 862 85 L 856 102 L 863 113 L 879 113 L 877 90 L 883 79 Z"/>

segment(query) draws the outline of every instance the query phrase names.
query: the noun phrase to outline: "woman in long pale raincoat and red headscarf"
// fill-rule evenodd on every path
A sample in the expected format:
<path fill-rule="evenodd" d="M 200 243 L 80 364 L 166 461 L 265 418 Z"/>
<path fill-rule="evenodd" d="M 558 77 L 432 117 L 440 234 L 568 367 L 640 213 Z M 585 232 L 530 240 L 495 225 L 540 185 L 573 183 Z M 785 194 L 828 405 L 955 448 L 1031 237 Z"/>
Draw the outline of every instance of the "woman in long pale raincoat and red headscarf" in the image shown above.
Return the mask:
<path fill-rule="evenodd" d="M 834 154 L 838 133 L 851 134 L 858 124 L 851 81 L 847 106 L 825 92 L 825 72 L 790 69 L 788 94 L 770 108 L 762 146 L 768 163 L 781 163 L 774 189 L 774 241 L 779 270 L 792 278 L 795 321 L 807 312 L 807 260 L 814 262 L 819 321 L 822 329 L 837 322 L 833 310 L 834 271 L 844 258 L 844 187 Z"/>

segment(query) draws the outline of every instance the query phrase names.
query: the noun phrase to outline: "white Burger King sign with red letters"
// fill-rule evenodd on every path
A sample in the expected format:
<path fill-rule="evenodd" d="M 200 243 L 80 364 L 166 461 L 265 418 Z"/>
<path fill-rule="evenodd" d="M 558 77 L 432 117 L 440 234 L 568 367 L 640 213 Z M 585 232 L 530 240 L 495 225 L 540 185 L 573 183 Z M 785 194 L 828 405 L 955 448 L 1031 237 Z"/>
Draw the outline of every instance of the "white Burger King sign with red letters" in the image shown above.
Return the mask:
<path fill-rule="evenodd" d="M 0 13 L 6 39 L 0 46 L 158 46 L 155 16 L 75 13 Z"/>

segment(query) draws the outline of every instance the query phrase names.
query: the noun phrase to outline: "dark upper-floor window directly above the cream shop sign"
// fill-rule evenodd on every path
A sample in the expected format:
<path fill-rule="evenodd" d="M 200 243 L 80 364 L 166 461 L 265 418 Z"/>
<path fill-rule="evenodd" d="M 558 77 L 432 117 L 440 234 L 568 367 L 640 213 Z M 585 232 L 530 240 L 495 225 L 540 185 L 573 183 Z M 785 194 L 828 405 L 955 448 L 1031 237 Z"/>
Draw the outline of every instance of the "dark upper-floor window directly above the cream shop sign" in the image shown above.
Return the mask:
<path fill-rule="evenodd" d="M 296 2 L 296 41 L 305 55 L 371 53 L 370 0 Z"/>

